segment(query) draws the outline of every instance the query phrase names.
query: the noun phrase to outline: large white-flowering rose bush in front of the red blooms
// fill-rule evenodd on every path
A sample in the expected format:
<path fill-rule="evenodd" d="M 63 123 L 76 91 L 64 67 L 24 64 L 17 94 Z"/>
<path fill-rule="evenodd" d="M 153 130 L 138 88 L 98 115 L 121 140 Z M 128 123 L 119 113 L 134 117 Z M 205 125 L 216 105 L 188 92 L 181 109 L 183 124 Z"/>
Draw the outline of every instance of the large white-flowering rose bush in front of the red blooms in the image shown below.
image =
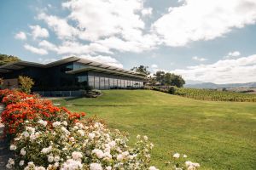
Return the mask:
<path fill-rule="evenodd" d="M 149 167 L 153 144 L 146 136 L 138 136 L 135 147 L 131 148 L 125 134 L 110 131 L 99 122 L 53 122 L 52 128 L 43 120 L 25 123 L 26 129 L 10 147 L 18 157 L 8 167 L 88 170 Z"/>

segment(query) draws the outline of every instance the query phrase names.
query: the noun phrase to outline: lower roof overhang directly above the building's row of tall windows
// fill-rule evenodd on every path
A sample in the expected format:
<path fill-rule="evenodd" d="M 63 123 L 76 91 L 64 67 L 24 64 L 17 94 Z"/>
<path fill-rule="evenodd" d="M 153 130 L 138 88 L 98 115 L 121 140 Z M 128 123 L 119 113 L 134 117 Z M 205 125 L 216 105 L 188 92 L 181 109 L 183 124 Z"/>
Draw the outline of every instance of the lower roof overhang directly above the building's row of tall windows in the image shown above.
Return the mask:
<path fill-rule="evenodd" d="M 106 68 L 100 68 L 100 67 L 91 66 L 91 65 L 88 65 L 82 69 L 77 69 L 74 71 L 67 71 L 66 73 L 67 74 L 77 74 L 77 73 L 84 72 L 84 71 L 95 71 L 95 72 L 101 72 L 101 73 L 108 73 L 108 74 L 116 75 L 116 76 L 134 77 L 134 78 L 139 78 L 139 79 L 143 79 L 143 80 L 147 79 L 146 77 L 137 76 L 137 75 L 134 75 L 131 73 L 126 73 L 126 72 L 122 72 L 122 71 L 113 71 L 113 70 L 109 70 Z"/>

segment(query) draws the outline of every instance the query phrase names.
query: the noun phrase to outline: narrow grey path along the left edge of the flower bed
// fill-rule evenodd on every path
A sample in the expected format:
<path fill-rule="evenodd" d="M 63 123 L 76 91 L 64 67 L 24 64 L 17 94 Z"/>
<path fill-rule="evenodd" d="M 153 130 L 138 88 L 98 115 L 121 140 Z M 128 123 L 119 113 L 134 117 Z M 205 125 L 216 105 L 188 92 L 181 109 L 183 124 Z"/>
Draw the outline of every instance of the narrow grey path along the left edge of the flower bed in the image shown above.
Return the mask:
<path fill-rule="evenodd" d="M 4 107 L 0 104 L 0 114 L 2 113 Z M 9 160 L 9 157 L 11 156 L 11 153 L 8 148 L 8 143 L 6 139 L 3 139 L 3 126 L 1 126 L 0 123 L 0 169 L 5 170 L 7 169 L 5 167 L 7 161 Z"/>

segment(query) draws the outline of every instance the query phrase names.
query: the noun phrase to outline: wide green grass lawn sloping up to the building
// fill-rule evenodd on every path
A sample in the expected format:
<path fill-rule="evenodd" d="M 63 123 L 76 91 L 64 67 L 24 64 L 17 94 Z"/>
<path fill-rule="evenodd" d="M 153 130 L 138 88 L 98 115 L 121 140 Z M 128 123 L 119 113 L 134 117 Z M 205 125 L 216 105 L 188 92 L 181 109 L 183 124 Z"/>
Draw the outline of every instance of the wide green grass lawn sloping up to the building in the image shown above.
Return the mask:
<path fill-rule="evenodd" d="M 201 169 L 256 169 L 256 104 L 187 99 L 149 90 L 109 90 L 96 99 L 55 100 L 71 111 L 85 111 L 108 127 L 148 135 L 152 164 L 172 152 L 188 155 Z"/>

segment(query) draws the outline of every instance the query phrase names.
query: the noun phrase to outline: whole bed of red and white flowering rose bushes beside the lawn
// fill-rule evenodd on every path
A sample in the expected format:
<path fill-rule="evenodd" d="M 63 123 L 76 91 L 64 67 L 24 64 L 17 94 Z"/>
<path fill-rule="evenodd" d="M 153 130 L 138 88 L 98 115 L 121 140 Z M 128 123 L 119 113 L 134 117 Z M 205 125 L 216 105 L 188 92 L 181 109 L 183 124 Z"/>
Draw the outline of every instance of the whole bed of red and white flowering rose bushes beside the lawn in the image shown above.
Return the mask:
<path fill-rule="evenodd" d="M 6 167 L 14 169 L 150 169 L 148 137 L 135 147 L 118 130 L 109 130 L 84 113 L 55 107 L 49 100 L 18 91 L 1 90 L 5 133 L 11 138 Z"/>

